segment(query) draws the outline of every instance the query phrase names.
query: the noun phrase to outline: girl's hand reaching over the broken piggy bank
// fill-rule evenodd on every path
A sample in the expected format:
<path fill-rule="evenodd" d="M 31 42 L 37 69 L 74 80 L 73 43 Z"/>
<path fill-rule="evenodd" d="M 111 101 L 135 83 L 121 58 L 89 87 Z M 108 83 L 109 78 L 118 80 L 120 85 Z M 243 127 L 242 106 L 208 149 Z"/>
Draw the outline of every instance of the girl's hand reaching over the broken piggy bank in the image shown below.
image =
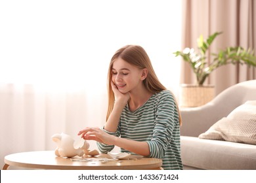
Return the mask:
<path fill-rule="evenodd" d="M 77 135 L 81 135 L 81 138 L 85 140 L 93 140 L 108 145 L 112 145 L 115 138 L 113 135 L 109 135 L 99 127 L 86 127 L 79 131 Z"/>

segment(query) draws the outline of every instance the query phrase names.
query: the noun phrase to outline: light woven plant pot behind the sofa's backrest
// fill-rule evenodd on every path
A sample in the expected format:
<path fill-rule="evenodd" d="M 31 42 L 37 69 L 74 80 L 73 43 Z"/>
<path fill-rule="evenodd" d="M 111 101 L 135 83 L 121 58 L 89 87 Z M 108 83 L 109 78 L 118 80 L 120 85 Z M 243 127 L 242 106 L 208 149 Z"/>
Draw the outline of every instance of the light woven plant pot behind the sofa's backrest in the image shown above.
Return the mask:
<path fill-rule="evenodd" d="M 215 87 L 213 85 L 181 84 L 179 105 L 181 107 L 199 107 L 205 105 L 214 97 Z"/>

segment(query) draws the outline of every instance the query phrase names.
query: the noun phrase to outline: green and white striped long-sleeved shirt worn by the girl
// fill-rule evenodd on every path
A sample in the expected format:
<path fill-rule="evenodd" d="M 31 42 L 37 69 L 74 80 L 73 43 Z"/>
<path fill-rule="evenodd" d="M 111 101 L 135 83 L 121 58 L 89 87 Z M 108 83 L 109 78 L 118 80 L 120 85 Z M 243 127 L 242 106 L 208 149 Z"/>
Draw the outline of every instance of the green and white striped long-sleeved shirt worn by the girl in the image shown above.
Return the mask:
<path fill-rule="evenodd" d="M 179 112 L 168 90 L 152 95 L 134 112 L 126 105 L 116 133 L 106 132 L 133 141 L 147 142 L 150 147 L 148 157 L 162 159 L 163 169 L 182 169 Z M 112 145 L 97 144 L 102 153 L 114 148 Z M 131 153 L 124 149 L 121 152 Z"/>

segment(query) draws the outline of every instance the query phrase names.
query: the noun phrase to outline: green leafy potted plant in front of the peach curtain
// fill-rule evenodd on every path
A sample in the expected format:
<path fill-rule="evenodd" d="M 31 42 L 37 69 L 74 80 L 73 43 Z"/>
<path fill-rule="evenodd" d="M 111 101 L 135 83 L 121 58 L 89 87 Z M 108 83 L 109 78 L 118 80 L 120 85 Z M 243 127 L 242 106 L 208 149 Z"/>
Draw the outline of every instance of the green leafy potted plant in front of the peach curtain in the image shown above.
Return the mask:
<path fill-rule="evenodd" d="M 198 52 L 194 50 L 194 48 L 184 48 L 182 51 L 177 51 L 173 54 L 175 56 L 181 56 L 182 59 L 189 63 L 190 67 L 192 68 L 192 71 L 196 75 L 196 86 L 194 88 L 197 88 L 197 91 L 195 93 L 198 93 L 201 95 L 199 97 L 202 103 L 198 104 L 192 104 L 185 107 L 196 107 L 198 105 L 203 105 L 204 103 L 207 103 L 211 99 L 205 99 L 203 101 L 202 99 L 202 93 L 199 92 L 199 88 L 203 88 L 203 84 L 205 82 L 205 79 L 217 68 L 221 67 L 222 65 L 227 64 L 246 64 L 249 66 L 256 66 L 256 57 L 254 54 L 254 51 L 249 49 L 242 48 L 241 46 L 236 47 L 227 47 L 224 50 L 219 50 L 217 53 L 211 53 L 212 58 L 211 61 L 207 59 L 207 51 L 209 51 L 209 47 L 211 46 L 211 43 L 215 40 L 215 38 L 220 35 L 222 32 L 215 32 L 212 35 L 209 35 L 209 37 L 204 40 L 203 36 L 200 35 L 198 38 Z M 189 92 L 188 92 L 189 93 Z M 209 91 L 204 92 L 205 94 L 209 95 Z M 191 94 L 191 92 L 190 92 Z M 212 94 L 211 94 L 212 95 Z M 184 97 L 184 96 L 183 96 Z M 193 96 L 189 96 L 190 100 L 192 100 Z M 213 98 L 213 96 L 210 96 Z"/>

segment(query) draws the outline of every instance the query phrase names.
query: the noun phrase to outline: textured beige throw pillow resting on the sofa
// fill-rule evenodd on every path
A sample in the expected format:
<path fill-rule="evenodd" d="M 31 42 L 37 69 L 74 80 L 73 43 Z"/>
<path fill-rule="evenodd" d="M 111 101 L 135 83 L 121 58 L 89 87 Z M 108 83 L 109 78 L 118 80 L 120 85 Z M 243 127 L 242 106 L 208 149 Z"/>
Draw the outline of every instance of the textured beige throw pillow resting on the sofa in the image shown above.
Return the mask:
<path fill-rule="evenodd" d="M 256 144 L 256 101 L 247 101 L 235 108 L 199 138 Z"/>

